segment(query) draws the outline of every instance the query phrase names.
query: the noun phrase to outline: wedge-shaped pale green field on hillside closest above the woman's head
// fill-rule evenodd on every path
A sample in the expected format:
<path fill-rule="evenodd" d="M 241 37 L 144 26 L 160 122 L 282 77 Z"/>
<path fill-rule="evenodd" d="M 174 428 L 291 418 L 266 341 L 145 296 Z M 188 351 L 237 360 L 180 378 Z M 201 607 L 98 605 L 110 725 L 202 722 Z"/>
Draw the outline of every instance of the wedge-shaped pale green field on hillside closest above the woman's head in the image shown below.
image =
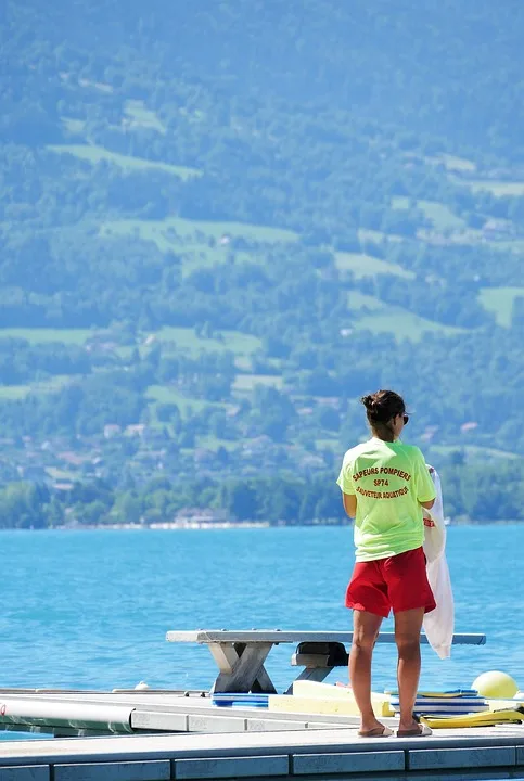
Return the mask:
<path fill-rule="evenodd" d="M 438 333 L 442 336 L 467 333 L 467 329 L 426 320 L 401 307 L 388 306 L 373 296 L 366 296 L 356 291 L 348 293 L 348 308 L 356 313 L 360 312 L 355 322 L 358 331 L 371 331 L 374 334 L 391 333 L 397 342 L 405 338 L 410 342 L 420 342 L 425 333 Z M 369 309 L 373 311 L 367 311 Z"/>

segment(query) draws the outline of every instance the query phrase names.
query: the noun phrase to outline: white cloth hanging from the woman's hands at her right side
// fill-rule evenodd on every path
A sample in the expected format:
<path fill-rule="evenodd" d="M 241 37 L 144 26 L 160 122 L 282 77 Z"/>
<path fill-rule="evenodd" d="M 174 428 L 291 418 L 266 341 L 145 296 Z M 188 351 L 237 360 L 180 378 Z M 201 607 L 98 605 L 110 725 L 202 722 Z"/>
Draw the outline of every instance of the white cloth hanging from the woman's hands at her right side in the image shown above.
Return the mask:
<path fill-rule="evenodd" d="M 440 477 L 433 468 L 430 474 L 435 484 L 436 499 L 431 510 L 424 510 L 434 526 L 424 526 L 424 553 L 427 560 L 427 579 L 435 597 L 436 607 L 424 616 L 423 628 L 432 649 L 440 658 L 451 655 L 455 630 L 455 604 L 449 567 L 446 561 L 446 524 L 444 521 Z"/>

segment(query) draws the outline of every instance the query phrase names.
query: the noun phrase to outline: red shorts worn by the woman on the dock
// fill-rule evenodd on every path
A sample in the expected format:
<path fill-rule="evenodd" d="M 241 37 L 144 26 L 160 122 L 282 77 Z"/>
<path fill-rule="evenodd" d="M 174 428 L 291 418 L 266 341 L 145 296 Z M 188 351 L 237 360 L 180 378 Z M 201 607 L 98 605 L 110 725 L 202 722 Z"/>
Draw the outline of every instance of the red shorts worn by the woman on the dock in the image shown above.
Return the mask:
<path fill-rule="evenodd" d="M 391 609 L 394 613 L 416 607 L 424 607 L 424 613 L 434 610 L 436 602 L 427 581 L 422 548 L 388 559 L 357 562 L 346 590 L 346 607 L 384 618 Z"/>

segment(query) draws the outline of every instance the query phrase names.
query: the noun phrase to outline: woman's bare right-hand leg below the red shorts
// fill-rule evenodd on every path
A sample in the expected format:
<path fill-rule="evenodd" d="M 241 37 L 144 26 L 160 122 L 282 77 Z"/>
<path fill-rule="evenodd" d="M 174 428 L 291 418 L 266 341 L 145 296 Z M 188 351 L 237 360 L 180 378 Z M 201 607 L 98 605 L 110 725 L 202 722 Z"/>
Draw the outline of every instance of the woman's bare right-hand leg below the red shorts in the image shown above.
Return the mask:
<path fill-rule="evenodd" d="M 420 679 L 420 630 L 424 609 L 395 613 L 395 642 L 398 649 L 398 697 L 400 700 L 400 730 L 413 729 L 413 707 Z"/>

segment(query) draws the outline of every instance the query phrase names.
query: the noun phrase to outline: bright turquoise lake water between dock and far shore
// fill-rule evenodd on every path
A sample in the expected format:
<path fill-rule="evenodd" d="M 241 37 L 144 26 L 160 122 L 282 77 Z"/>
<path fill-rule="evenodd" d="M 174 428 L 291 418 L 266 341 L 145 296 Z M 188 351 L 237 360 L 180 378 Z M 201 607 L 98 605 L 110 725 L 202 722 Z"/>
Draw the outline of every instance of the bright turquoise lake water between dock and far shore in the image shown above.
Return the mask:
<path fill-rule="evenodd" d="M 204 646 L 168 629 L 347 629 L 349 527 L 172 532 L 2 532 L 1 687 L 208 689 Z M 524 524 L 450 527 L 456 630 L 485 646 L 440 661 L 423 649 L 421 686 L 469 687 L 503 669 L 524 689 Z M 383 625 L 392 628 L 392 620 Z M 279 690 L 297 671 L 292 646 L 268 670 Z M 343 668 L 331 681 L 346 680 Z M 395 653 L 378 646 L 373 687 L 395 686 Z"/>

